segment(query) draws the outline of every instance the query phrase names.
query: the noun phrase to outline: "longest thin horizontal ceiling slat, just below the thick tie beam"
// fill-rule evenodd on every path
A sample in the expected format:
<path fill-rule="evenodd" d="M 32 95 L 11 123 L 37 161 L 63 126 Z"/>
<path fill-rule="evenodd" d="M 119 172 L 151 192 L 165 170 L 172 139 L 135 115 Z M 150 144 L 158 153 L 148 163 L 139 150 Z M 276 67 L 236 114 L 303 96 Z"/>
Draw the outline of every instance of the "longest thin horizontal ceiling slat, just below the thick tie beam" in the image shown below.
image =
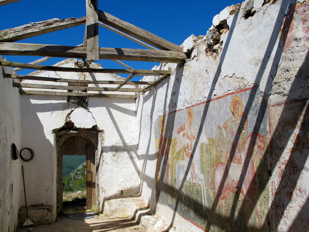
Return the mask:
<path fill-rule="evenodd" d="M 70 67 L 58 67 L 58 66 L 44 66 L 39 64 L 24 64 L 10 61 L 0 61 L 0 66 L 28 68 L 28 69 L 45 70 L 45 71 L 59 71 L 59 72 L 121 73 L 121 74 L 145 74 L 145 75 L 171 74 L 171 71 L 169 70 L 70 68 Z"/>

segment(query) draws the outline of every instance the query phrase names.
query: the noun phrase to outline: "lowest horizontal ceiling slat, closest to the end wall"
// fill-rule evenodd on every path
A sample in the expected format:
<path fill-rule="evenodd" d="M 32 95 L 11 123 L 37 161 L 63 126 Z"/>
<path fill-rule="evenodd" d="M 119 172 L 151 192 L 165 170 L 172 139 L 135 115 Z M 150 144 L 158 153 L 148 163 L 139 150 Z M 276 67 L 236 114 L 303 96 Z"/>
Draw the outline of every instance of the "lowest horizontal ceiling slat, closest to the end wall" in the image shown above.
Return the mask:
<path fill-rule="evenodd" d="M 84 92 L 53 92 L 53 91 L 36 91 L 36 90 L 22 90 L 21 94 L 40 94 L 40 95 L 57 95 L 57 96 L 82 96 L 82 97 L 113 97 L 113 98 L 137 98 L 137 95 L 129 94 L 104 94 L 104 93 L 84 93 Z"/>

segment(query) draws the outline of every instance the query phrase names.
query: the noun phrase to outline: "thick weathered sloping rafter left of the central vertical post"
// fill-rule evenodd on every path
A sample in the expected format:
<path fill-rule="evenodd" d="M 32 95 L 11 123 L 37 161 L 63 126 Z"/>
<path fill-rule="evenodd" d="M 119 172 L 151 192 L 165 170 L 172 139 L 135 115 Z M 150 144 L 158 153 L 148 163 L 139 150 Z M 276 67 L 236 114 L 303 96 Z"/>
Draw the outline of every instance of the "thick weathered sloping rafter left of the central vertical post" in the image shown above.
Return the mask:
<path fill-rule="evenodd" d="M 55 32 L 66 28 L 79 26 L 86 23 L 86 17 L 70 19 L 49 19 L 41 22 L 30 23 L 20 27 L 0 31 L 0 41 L 15 42 L 34 36 Z"/>

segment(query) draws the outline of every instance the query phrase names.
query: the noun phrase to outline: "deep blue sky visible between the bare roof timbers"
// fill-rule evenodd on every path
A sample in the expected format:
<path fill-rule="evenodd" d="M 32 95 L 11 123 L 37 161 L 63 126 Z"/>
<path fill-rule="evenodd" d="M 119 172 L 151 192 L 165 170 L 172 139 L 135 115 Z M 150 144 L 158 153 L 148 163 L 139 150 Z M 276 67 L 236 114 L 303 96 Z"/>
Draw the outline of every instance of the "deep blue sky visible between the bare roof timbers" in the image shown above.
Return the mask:
<path fill-rule="evenodd" d="M 212 19 L 226 6 L 239 1 L 102 1 L 99 10 L 105 11 L 121 20 L 143 28 L 172 43 L 180 45 L 191 34 L 206 35 L 212 25 Z M 18 27 L 24 24 L 47 19 L 79 18 L 86 16 L 85 0 L 23 0 L 0 6 L 2 23 L 0 30 Z M 45 35 L 17 41 L 19 43 L 37 43 L 76 46 L 83 43 L 85 25 L 51 32 Z M 99 47 L 146 49 L 105 28 L 99 27 Z M 8 61 L 29 63 L 42 57 L 4 56 Z M 51 58 L 41 64 L 53 65 L 65 58 Z M 123 61 L 134 69 L 151 69 L 157 62 Z M 125 68 L 111 60 L 98 61 L 104 68 Z M 22 70 L 25 75 L 33 70 Z M 126 77 L 126 75 L 121 75 Z M 133 77 L 139 80 L 141 77 Z"/>

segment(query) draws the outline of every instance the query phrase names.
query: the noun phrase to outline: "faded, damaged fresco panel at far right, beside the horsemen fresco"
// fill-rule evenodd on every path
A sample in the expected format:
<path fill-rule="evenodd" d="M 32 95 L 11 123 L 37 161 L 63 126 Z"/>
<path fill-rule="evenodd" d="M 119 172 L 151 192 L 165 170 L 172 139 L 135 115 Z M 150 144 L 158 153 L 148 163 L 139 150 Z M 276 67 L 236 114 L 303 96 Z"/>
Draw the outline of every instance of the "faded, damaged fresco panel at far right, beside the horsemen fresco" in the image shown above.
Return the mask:
<path fill-rule="evenodd" d="M 291 231 L 303 231 L 309 209 L 297 210 L 309 196 L 308 99 L 271 105 L 269 127 L 273 134 L 269 159 L 272 229 L 280 231 L 294 222 Z"/>

